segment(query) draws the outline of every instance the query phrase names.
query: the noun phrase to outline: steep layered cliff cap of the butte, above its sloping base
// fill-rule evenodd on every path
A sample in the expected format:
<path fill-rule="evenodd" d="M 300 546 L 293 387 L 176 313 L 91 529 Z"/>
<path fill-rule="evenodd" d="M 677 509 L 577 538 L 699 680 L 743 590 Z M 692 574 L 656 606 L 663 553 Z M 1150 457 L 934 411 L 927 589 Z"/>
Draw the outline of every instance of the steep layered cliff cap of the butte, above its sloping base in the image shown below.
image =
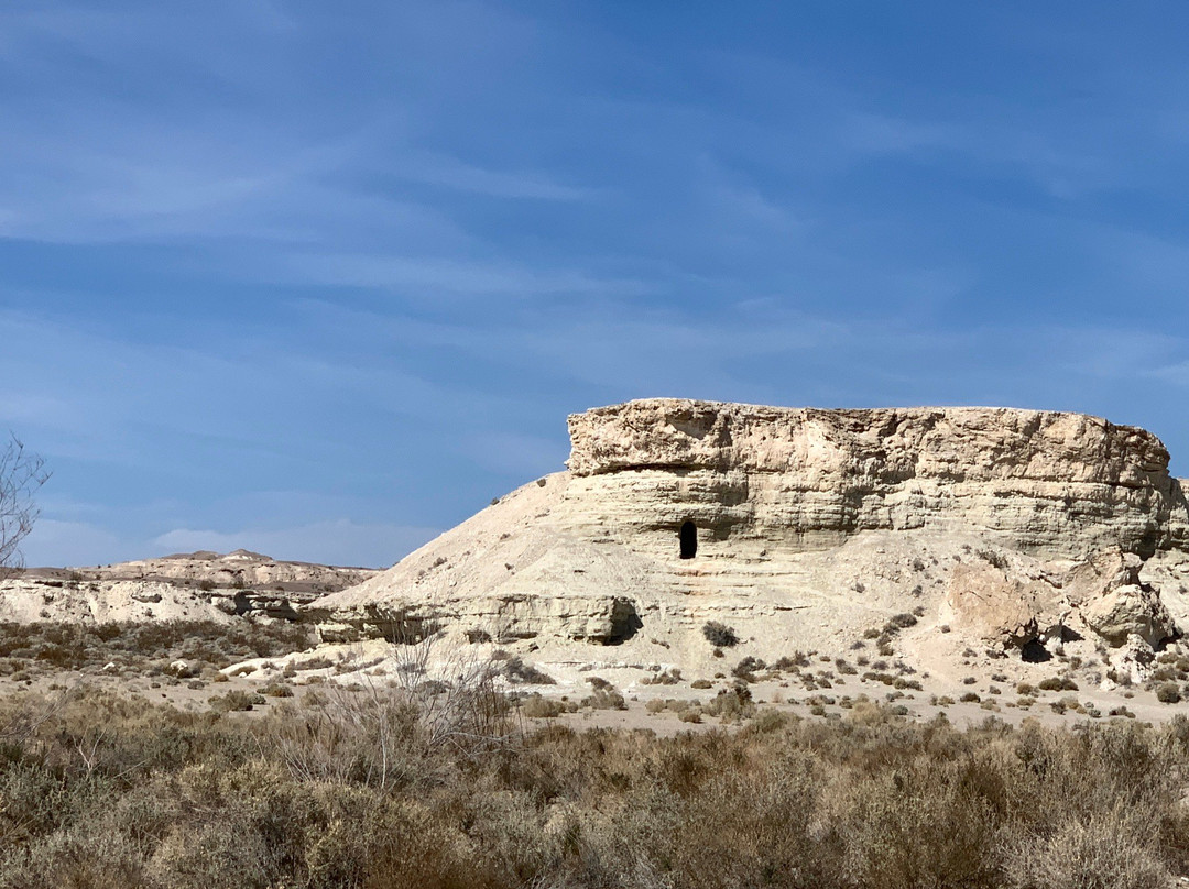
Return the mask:
<path fill-rule="evenodd" d="M 686 522 L 699 555 L 820 549 L 864 530 L 963 530 L 1069 559 L 1184 538 L 1159 439 L 1081 414 L 656 398 L 568 422 L 566 500 L 635 548 L 671 550 Z"/>

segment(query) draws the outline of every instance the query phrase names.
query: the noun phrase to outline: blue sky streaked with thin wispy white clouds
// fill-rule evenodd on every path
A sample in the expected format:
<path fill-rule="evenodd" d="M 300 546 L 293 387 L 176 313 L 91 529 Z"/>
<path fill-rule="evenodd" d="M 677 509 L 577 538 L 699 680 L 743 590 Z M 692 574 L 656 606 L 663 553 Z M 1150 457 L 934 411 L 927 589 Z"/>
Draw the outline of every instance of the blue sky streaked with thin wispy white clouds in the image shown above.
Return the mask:
<path fill-rule="evenodd" d="M 1189 474 L 1189 6 L 0 7 L 31 565 L 388 565 L 681 396 L 1007 404 Z"/>

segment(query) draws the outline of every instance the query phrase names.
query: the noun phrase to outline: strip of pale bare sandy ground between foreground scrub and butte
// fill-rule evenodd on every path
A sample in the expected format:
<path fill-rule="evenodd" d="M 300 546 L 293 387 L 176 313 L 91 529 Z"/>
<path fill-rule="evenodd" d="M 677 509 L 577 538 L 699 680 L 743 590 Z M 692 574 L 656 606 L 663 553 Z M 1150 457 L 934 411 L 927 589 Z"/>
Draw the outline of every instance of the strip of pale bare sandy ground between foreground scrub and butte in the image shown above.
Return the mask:
<path fill-rule="evenodd" d="M 303 696 L 314 689 L 325 691 L 329 687 L 327 683 L 340 682 L 347 687 L 382 688 L 395 681 L 392 680 L 395 675 L 392 658 L 396 658 L 396 663 L 407 662 L 401 661 L 401 658 L 407 658 L 408 652 L 392 652 L 392 649 L 400 648 L 402 647 L 390 647 L 386 643 L 364 643 L 353 647 L 323 645 L 301 655 L 290 656 L 289 660 L 295 660 L 300 664 L 301 658 L 326 658 L 335 661 L 335 667 L 301 669 L 290 677 L 282 675 L 288 662 L 285 657 L 257 658 L 237 664 L 222 672 L 226 679 L 221 681 L 176 679 L 168 675 L 146 676 L 127 669 L 118 674 L 52 672 L 19 681 L 12 676 L 5 676 L 0 677 L 0 695 L 20 689 L 54 694 L 63 693 L 67 689 L 77 693 L 86 688 L 101 688 L 124 695 L 144 696 L 185 711 L 201 712 L 212 707 L 213 698 L 226 695 L 231 691 L 260 692 L 265 686 L 278 681 L 289 685 L 294 693 L 291 698 L 266 696 L 264 704 L 256 705 L 251 713 L 243 714 L 252 718 L 253 714 L 268 713 L 281 704 L 304 706 Z M 385 655 L 389 660 L 385 660 Z M 1002 664 L 1002 662 L 996 663 Z M 440 666 L 443 668 L 442 670 L 432 666 L 426 675 L 433 675 L 435 672 L 443 675 L 445 670 L 458 668 L 458 664 L 453 662 Z M 252 673 L 241 674 L 241 670 L 250 667 L 254 667 Z M 351 670 L 351 667 L 359 669 Z M 1002 664 L 1004 673 L 995 675 L 1007 676 L 1009 667 L 1012 668 L 1011 673 L 1018 675 L 1026 674 L 1028 670 L 1025 668 L 1032 666 Z M 864 677 L 862 673 L 860 675 L 838 675 L 832 663 L 818 662 L 812 664 L 812 668 L 804 668 L 804 673 L 819 668 L 829 670 L 832 675 L 832 679 L 828 680 L 829 688 L 819 687 L 807 691 L 797 674 L 780 674 L 772 679 L 761 677 L 760 681 L 748 683 L 746 687 L 756 705 L 756 713 L 776 711 L 806 719 L 836 720 L 845 718 L 855 702 L 868 700 L 895 707 L 898 715 L 916 721 L 926 721 L 936 719 L 938 714 L 944 714 L 946 719 L 958 726 L 979 725 L 988 718 L 994 718 L 1012 725 L 1019 725 L 1026 719 L 1036 719 L 1044 725 L 1067 727 L 1088 721 L 1107 723 L 1112 719 L 1159 723 L 1178 714 L 1189 714 L 1189 702 L 1162 704 L 1152 691 L 1145 691 L 1141 687 L 1112 691 L 1081 687 L 1076 692 L 1038 691 L 1034 696 L 1025 696 L 1017 692 L 1018 680 L 1014 676 L 1011 677 L 1011 681 L 977 679 L 967 685 L 955 683 L 949 677 L 929 676 L 921 679 L 920 675 L 917 675 L 911 676 L 911 679 L 920 681 L 921 691 L 894 689 L 880 681 Z M 598 710 L 579 706 L 577 712 L 564 713 L 551 719 L 526 718 L 524 724 L 535 726 L 556 721 L 575 730 L 642 729 L 661 736 L 671 736 L 685 731 L 707 731 L 716 727 L 730 730 L 747 724 L 747 720 L 724 720 L 709 714 L 700 715 L 698 721 L 687 721 L 682 720 L 673 710 L 656 710 L 659 706 L 656 702 L 667 700 L 691 702 L 704 707 L 721 692 L 726 692 L 737 685 L 737 680 L 729 675 L 729 670 L 724 670 L 724 673 L 726 675 L 717 679 L 709 676 L 703 679 L 703 682 L 711 683 L 710 688 L 692 687 L 692 681 L 697 677 L 685 677 L 672 685 L 646 685 L 644 680 L 655 679 L 658 674 L 616 667 L 599 670 L 584 669 L 573 676 L 559 677 L 555 685 L 520 685 L 504 686 L 504 688 L 521 695 L 541 694 L 545 698 L 567 704 L 580 702 L 591 694 L 589 680 L 597 676 L 610 682 L 623 695 L 625 710 Z M 973 675 L 979 673 L 981 670 L 971 670 Z M 1051 670 L 1038 672 L 1038 676 L 1043 675 L 1051 675 Z M 961 696 L 964 694 L 977 695 L 979 700 L 962 701 Z M 1028 702 L 1030 696 L 1032 698 L 1031 704 Z M 652 710 L 648 706 L 649 701 L 654 701 Z M 1111 712 L 1119 711 L 1119 708 L 1126 708 L 1126 712 L 1133 715 L 1112 717 Z"/>

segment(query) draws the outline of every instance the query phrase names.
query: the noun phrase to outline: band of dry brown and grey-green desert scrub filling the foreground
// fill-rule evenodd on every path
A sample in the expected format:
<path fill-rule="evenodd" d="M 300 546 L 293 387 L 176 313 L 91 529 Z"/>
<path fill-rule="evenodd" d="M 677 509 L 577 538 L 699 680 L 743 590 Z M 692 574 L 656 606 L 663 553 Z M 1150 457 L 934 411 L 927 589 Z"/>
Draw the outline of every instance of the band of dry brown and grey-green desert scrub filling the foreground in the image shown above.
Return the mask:
<path fill-rule="evenodd" d="M 957 731 L 854 700 L 730 733 L 529 731 L 482 664 L 433 695 L 316 695 L 259 719 L 0 699 L 0 885 L 1155 889 L 1189 868 L 1183 718 Z"/>

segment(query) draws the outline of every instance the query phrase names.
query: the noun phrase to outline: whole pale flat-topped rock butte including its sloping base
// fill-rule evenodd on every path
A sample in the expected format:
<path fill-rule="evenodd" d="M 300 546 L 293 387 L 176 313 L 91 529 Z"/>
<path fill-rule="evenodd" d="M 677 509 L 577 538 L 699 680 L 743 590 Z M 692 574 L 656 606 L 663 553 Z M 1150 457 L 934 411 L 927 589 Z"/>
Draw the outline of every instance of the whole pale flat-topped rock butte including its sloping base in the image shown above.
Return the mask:
<path fill-rule="evenodd" d="M 432 626 L 546 660 L 599 643 L 702 666 L 707 620 L 779 656 L 845 650 L 913 610 L 902 650 L 927 666 L 971 636 L 1000 650 L 1090 637 L 1143 661 L 1189 618 L 1185 498 L 1143 429 L 658 398 L 573 415 L 570 436 L 566 472 L 307 616 L 328 638 Z"/>

